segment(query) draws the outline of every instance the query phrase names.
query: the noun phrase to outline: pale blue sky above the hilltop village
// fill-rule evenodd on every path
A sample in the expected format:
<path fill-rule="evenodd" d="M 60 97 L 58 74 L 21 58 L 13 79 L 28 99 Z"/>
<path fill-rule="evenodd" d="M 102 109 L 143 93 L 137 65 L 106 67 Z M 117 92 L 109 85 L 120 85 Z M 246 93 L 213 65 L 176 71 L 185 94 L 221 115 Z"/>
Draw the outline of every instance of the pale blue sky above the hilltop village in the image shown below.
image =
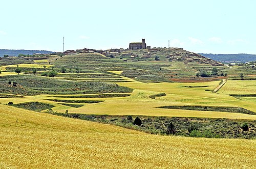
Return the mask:
<path fill-rule="evenodd" d="M 0 2 L 0 49 L 181 47 L 256 54 L 254 0 Z"/>

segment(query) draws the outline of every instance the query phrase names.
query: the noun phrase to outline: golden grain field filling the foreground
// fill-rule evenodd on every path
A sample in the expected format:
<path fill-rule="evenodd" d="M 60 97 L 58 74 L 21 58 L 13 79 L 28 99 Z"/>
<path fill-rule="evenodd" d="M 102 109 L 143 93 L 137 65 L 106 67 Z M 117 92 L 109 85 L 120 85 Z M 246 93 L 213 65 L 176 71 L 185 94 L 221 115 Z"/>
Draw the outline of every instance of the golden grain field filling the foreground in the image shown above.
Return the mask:
<path fill-rule="evenodd" d="M 0 168 L 254 168 L 255 140 L 150 135 L 2 105 Z"/>

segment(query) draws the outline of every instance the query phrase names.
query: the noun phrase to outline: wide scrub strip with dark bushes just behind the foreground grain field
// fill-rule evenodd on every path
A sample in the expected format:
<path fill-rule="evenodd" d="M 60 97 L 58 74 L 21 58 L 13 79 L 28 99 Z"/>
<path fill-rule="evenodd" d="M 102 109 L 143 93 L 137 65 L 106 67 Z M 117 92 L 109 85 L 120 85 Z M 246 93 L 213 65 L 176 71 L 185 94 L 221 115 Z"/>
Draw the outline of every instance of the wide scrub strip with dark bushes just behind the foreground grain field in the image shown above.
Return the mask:
<path fill-rule="evenodd" d="M 58 116 L 88 120 L 99 123 L 113 124 L 129 129 L 139 130 L 151 134 L 168 135 L 168 125 L 175 126 L 174 135 L 207 138 L 246 138 L 254 139 L 256 121 L 211 119 L 211 118 L 177 118 L 177 117 L 152 117 L 139 116 L 141 126 L 134 125 L 137 116 L 110 116 L 110 115 L 84 115 L 84 114 L 62 114 L 48 111 Z M 242 125 L 247 123 L 249 131 L 244 132 Z"/>

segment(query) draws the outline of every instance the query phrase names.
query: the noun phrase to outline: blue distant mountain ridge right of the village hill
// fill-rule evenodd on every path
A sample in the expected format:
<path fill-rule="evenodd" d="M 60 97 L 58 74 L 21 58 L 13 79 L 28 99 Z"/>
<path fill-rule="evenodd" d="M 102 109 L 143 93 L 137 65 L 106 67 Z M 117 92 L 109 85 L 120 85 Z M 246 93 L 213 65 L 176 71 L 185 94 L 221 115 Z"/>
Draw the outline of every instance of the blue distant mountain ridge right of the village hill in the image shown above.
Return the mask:
<path fill-rule="evenodd" d="M 212 54 L 212 53 L 198 53 L 206 58 L 221 62 L 221 63 L 245 63 L 256 61 L 256 54 Z"/>

